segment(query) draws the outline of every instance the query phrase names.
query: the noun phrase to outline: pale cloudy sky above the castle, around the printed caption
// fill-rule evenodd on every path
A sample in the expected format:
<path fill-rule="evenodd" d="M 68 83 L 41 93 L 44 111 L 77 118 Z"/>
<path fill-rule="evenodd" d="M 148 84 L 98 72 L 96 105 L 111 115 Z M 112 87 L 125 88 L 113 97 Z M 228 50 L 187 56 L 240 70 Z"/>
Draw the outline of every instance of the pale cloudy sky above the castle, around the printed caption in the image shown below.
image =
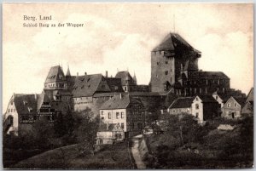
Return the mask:
<path fill-rule="evenodd" d="M 84 26 L 23 26 L 40 22 Z M 51 66 L 68 65 L 72 75 L 128 70 L 148 84 L 150 52 L 170 32 L 201 51 L 201 70 L 223 71 L 246 94 L 253 87 L 253 4 L 5 3 L 3 112 L 14 93 L 40 94 Z"/>

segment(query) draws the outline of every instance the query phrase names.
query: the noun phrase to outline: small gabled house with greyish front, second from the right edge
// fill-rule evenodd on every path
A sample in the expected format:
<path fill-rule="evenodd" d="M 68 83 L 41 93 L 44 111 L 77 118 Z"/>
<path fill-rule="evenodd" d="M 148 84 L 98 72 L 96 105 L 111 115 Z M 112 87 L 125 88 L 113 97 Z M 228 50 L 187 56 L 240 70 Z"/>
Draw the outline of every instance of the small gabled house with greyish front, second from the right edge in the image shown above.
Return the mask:
<path fill-rule="evenodd" d="M 222 117 L 235 119 L 241 117 L 241 108 L 245 105 L 245 98 L 230 97 L 224 103 Z"/>

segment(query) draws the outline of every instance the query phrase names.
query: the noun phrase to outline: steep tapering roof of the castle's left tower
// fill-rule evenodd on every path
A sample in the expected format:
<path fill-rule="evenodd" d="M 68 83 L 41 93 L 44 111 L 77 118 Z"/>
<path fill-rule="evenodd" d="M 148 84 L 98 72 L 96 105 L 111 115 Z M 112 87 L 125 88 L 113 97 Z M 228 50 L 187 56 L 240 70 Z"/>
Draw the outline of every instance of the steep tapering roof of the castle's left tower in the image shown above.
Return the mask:
<path fill-rule="evenodd" d="M 44 83 L 54 83 L 54 82 L 66 82 L 66 77 L 61 69 L 61 66 L 52 66 L 49 69 L 48 76 Z"/>

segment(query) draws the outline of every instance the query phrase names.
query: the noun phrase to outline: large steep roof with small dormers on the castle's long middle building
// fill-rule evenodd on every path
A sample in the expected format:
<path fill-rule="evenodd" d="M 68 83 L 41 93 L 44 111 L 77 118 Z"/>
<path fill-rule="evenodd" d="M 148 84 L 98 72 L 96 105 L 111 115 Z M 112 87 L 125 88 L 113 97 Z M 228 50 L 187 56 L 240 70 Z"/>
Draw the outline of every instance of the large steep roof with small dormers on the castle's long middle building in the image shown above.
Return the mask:
<path fill-rule="evenodd" d="M 73 97 L 88 97 L 96 92 L 110 92 L 106 79 L 102 74 L 78 76 L 74 80 Z"/>

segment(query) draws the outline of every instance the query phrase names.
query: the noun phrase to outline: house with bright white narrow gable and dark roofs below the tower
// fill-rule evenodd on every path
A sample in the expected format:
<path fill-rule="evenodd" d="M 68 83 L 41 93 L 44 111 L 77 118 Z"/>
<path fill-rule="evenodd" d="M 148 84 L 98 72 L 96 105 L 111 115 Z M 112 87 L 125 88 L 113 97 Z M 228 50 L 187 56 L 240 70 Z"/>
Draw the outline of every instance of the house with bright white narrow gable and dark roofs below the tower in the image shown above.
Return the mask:
<path fill-rule="evenodd" d="M 168 107 L 170 114 L 182 112 L 193 115 L 198 123 L 218 117 L 218 102 L 211 95 L 197 95 L 195 97 L 180 97 Z"/>

